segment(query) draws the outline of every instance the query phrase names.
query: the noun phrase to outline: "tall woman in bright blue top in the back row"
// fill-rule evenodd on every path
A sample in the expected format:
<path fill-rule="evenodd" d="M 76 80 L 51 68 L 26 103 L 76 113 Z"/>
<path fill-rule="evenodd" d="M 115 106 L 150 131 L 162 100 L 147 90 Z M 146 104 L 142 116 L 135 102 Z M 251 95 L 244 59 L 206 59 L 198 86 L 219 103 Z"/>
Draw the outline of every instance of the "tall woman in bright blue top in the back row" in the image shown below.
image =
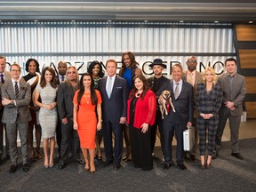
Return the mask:
<path fill-rule="evenodd" d="M 128 92 L 134 88 L 134 76 L 142 74 L 139 68 L 139 63 L 135 60 L 135 56 L 132 52 L 124 52 L 122 55 L 122 68 L 119 71 L 119 76 L 122 76 L 128 84 Z M 131 157 L 131 144 L 129 137 L 129 129 L 126 125 L 123 127 L 124 131 L 124 141 L 126 146 L 126 156 L 124 156 L 124 161 L 129 161 Z"/>

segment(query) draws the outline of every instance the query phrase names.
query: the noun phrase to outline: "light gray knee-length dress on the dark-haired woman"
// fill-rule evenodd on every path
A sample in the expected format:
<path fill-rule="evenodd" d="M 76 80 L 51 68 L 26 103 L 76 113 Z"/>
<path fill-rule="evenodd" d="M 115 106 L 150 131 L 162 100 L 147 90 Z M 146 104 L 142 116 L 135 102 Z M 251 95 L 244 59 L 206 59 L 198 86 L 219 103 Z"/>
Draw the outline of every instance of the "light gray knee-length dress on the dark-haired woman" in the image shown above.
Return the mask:
<path fill-rule="evenodd" d="M 47 83 L 44 88 L 42 88 L 40 84 L 37 84 L 36 90 L 40 93 L 42 103 L 49 105 L 56 101 L 58 88 L 52 88 L 51 84 Z M 52 110 L 40 108 L 39 123 L 42 127 L 43 139 L 54 137 L 57 126 L 57 108 Z"/>

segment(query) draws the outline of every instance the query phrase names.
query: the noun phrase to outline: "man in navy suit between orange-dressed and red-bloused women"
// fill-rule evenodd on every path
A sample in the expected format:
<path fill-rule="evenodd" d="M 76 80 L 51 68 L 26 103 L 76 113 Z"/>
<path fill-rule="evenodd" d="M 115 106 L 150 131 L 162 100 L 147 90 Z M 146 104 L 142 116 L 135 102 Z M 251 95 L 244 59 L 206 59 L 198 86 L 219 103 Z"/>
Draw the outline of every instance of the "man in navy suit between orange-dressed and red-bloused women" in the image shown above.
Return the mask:
<path fill-rule="evenodd" d="M 102 98 L 103 115 L 103 139 L 105 156 L 107 158 L 105 166 L 113 164 L 114 169 L 121 167 L 121 157 L 123 154 L 123 124 L 126 123 L 127 105 L 127 83 L 124 78 L 116 76 L 116 60 L 108 60 L 106 69 L 108 76 L 99 80 L 99 91 Z M 115 148 L 113 157 L 112 132 L 115 136 Z"/>

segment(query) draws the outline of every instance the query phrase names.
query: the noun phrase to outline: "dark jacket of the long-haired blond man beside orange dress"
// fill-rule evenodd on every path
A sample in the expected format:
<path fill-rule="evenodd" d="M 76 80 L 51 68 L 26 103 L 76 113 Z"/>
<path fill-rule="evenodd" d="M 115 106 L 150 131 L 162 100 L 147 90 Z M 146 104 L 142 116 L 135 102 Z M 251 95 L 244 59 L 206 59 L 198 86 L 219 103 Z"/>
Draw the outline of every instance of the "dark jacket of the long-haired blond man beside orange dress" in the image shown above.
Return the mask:
<path fill-rule="evenodd" d="M 72 118 L 73 119 L 73 97 L 75 92 L 71 84 L 64 82 L 59 85 L 57 92 L 57 103 L 58 103 L 58 114 L 60 116 L 60 121 L 62 118 Z"/>

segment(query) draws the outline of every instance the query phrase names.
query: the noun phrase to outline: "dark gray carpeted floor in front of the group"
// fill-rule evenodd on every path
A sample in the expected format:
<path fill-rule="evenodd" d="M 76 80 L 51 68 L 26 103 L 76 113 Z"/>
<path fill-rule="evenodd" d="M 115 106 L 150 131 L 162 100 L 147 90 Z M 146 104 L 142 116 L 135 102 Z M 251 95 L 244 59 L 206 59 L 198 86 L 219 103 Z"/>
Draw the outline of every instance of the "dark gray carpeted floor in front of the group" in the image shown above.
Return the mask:
<path fill-rule="evenodd" d="M 96 162 L 94 174 L 73 162 L 59 170 L 56 159 L 51 169 L 44 168 L 44 160 L 37 160 L 30 163 L 29 172 L 22 172 L 20 164 L 11 174 L 10 161 L 3 160 L 0 191 L 256 191 L 256 139 L 241 140 L 244 161 L 230 156 L 229 144 L 223 143 L 220 157 L 212 160 L 209 170 L 199 168 L 198 153 L 196 162 L 185 161 L 188 170 L 182 171 L 175 164 L 164 170 L 160 148 L 155 151 L 154 170 L 149 172 L 135 169 L 131 162 L 122 162 L 117 171 Z"/>

